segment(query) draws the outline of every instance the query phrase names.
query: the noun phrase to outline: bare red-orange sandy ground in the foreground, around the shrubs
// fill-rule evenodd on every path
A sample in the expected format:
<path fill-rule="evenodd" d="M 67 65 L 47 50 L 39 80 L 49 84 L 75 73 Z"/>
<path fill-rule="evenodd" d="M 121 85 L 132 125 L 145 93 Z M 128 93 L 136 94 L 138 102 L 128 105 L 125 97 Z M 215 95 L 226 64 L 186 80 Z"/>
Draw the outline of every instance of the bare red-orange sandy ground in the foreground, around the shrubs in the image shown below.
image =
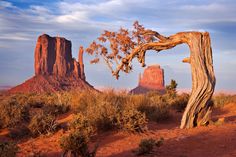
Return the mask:
<path fill-rule="evenodd" d="M 60 123 L 72 118 L 61 117 Z M 164 144 L 148 156 L 158 157 L 236 157 L 236 104 L 228 104 L 213 112 L 213 120 L 224 119 L 223 124 L 179 129 L 181 113 L 175 113 L 168 122 L 150 123 L 149 131 L 142 134 L 106 132 L 92 138 L 91 147 L 99 143 L 97 157 L 132 157 L 143 138 L 164 138 Z M 3 134 L 3 133 L 1 133 Z M 61 155 L 59 139 L 63 131 L 54 135 L 20 141 L 19 157 L 43 154 L 49 157 Z M 3 135 L 2 135 L 3 136 Z"/>

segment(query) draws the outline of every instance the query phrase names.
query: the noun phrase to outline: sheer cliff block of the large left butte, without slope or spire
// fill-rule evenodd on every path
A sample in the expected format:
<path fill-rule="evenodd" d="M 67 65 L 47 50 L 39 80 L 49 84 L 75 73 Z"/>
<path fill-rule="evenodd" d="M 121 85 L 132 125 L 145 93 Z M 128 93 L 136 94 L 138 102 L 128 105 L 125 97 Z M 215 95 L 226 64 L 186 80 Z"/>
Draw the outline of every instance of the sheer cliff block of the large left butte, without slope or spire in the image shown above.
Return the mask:
<path fill-rule="evenodd" d="M 81 77 L 79 63 L 72 58 L 71 41 L 43 34 L 35 48 L 35 75 Z"/>

